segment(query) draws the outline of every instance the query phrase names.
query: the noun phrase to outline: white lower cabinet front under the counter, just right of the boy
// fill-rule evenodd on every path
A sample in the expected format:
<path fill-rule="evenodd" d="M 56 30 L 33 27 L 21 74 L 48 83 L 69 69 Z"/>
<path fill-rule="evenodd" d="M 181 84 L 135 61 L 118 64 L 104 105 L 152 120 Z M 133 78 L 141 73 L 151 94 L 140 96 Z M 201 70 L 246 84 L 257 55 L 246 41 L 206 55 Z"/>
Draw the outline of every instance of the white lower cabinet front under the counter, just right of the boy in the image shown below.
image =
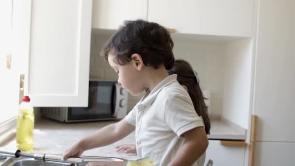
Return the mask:
<path fill-rule="evenodd" d="M 213 160 L 213 166 L 244 166 L 245 147 L 228 147 L 219 140 L 209 140 L 206 160 Z"/>

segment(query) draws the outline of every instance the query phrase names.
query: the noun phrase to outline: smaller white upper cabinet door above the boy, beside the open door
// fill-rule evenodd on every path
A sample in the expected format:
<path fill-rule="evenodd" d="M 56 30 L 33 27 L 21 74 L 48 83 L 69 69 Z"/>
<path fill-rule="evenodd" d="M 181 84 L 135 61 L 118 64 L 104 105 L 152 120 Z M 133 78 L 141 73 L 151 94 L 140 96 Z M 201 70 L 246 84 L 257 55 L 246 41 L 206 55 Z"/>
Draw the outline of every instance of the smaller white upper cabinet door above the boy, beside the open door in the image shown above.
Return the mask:
<path fill-rule="evenodd" d="M 147 20 L 148 0 L 93 0 L 92 28 L 118 29 L 124 20 Z"/>

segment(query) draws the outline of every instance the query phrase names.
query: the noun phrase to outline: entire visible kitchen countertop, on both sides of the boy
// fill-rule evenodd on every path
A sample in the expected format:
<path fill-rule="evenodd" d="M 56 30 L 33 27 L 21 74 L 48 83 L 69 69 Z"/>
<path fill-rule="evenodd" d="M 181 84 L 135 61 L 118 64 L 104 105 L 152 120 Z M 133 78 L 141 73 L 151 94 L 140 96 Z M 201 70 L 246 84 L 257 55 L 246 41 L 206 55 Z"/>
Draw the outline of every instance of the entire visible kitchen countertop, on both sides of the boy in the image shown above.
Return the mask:
<path fill-rule="evenodd" d="M 82 137 L 94 133 L 98 129 L 115 123 L 116 121 L 97 121 L 87 123 L 61 123 L 45 118 L 39 119 L 35 123 L 34 129 L 34 152 L 63 154 L 67 148 L 72 146 Z M 211 134 L 209 139 L 246 139 L 246 130 L 229 124 L 226 120 L 213 120 L 211 122 Z M 115 147 L 121 144 L 133 144 L 135 142 L 135 133 L 132 132 L 122 140 L 111 145 L 90 149 L 82 155 L 87 156 L 107 156 L 119 157 L 127 160 L 136 160 L 137 155 L 124 152 L 116 152 Z M 4 149 L 15 150 L 15 137 L 12 141 L 7 142 Z"/>

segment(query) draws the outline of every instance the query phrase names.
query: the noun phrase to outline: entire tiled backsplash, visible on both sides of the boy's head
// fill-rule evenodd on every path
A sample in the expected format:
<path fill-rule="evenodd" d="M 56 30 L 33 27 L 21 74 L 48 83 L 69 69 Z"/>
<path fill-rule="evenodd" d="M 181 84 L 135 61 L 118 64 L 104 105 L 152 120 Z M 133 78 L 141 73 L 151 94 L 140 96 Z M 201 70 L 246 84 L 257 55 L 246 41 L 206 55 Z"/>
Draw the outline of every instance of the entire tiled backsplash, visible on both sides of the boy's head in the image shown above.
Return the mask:
<path fill-rule="evenodd" d="M 93 35 L 91 39 L 90 79 L 117 80 L 115 71 L 99 56 L 101 47 L 110 36 Z M 174 40 L 175 58 L 190 62 L 200 78 L 202 90 L 211 91 L 210 114 L 221 116 L 224 87 L 224 44 L 213 42 L 187 42 Z M 128 109 L 131 110 L 142 95 L 129 95 Z"/>

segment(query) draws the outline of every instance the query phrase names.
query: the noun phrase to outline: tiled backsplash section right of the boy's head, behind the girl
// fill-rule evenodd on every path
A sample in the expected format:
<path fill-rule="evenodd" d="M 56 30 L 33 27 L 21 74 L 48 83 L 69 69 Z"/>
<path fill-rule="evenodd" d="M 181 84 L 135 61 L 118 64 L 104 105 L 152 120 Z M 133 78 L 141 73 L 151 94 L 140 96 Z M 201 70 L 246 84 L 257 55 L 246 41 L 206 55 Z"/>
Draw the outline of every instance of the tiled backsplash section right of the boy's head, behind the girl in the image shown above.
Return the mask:
<path fill-rule="evenodd" d="M 188 61 L 197 70 L 202 90 L 211 92 L 210 115 L 220 116 L 224 86 L 224 44 L 174 40 L 175 58 Z"/>

